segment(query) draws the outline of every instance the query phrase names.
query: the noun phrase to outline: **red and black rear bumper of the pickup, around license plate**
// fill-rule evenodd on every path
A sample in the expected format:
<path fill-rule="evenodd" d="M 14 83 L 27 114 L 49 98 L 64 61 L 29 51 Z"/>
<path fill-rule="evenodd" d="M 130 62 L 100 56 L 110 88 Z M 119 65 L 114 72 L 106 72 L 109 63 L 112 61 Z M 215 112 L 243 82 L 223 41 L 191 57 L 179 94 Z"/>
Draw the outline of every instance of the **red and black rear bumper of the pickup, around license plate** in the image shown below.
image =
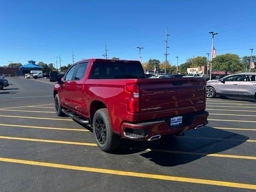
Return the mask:
<path fill-rule="evenodd" d="M 140 123 L 125 122 L 121 125 L 121 135 L 132 140 L 149 140 L 152 136 L 174 134 L 206 125 L 208 115 L 207 111 L 177 115 L 182 116 L 182 124 L 176 126 L 169 126 L 171 117 Z"/>

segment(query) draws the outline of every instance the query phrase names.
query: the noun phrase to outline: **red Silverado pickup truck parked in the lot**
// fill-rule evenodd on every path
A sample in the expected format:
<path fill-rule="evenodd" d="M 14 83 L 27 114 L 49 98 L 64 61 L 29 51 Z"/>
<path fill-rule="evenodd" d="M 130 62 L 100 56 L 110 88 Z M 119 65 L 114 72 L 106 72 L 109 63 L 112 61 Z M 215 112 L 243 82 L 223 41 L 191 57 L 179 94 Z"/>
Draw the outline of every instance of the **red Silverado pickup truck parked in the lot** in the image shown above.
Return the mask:
<path fill-rule="evenodd" d="M 106 152 L 121 138 L 156 140 L 208 123 L 203 78 L 147 79 L 138 61 L 82 60 L 58 78 L 53 95 L 56 114 L 90 124 Z"/>

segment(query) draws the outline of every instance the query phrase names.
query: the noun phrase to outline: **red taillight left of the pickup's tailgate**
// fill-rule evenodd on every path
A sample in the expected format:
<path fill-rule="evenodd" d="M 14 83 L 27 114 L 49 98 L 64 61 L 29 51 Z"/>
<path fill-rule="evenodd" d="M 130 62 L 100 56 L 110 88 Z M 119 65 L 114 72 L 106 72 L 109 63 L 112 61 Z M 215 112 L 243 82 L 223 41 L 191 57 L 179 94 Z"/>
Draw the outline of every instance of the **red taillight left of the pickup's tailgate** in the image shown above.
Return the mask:
<path fill-rule="evenodd" d="M 138 85 L 126 85 L 126 91 L 130 92 L 131 97 L 128 99 L 128 111 L 131 113 L 139 112 L 139 86 Z"/>

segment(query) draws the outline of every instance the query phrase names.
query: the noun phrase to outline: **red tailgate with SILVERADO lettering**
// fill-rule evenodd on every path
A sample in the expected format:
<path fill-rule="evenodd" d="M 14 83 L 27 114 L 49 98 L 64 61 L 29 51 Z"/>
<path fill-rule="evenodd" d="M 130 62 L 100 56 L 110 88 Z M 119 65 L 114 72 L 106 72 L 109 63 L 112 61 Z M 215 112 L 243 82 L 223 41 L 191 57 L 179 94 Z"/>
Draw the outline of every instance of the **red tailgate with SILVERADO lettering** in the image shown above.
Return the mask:
<path fill-rule="evenodd" d="M 169 78 L 140 80 L 140 114 L 149 118 L 204 110 L 203 78 Z M 145 117 L 144 115 L 144 117 Z M 143 117 L 143 115 L 141 115 Z"/>

